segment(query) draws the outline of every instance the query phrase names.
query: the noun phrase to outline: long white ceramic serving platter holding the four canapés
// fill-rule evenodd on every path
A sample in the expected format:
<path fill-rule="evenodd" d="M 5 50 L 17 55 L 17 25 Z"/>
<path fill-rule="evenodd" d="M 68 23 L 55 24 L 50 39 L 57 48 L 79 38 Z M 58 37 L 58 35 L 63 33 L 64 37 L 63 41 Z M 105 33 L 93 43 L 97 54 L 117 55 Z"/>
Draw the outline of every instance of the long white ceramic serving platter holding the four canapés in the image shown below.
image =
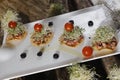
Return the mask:
<path fill-rule="evenodd" d="M 70 20 L 74 21 L 75 26 L 79 26 L 85 29 L 84 41 L 75 48 L 66 47 L 60 44 L 59 38 L 64 31 L 64 24 Z M 93 21 L 93 26 L 89 26 L 88 22 Z M 104 5 L 97 5 L 94 7 L 78 10 L 63 15 L 38 20 L 25 24 L 27 29 L 26 38 L 17 44 L 14 48 L 6 48 L 5 38 L 3 41 L 0 52 L 0 80 L 11 79 L 24 75 L 34 74 L 47 70 L 52 70 L 64 66 L 68 66 L 77 62 L 90 61 L 102 57 L 112 56 L 120 53 L 120 41 L 115 53 L 104 56 L 96 56 L 97 53 L 93 52 L 93 57 L 85 59 L 82 55 L 82 49 L 84 46 L 91 46 L 91 40 L 95 30 L 105 21 L 107 25 L 112 24 L 112 19 L 107 8 Z M 43 47 L 35 47 L 30 42 L 30 36 L 33 32 L 33 27 L 36 23 L 41 23 L 44 26 L 48 26 L 49 22 L 53 23 L 53 38 L 49 44 Z M 118 40 L 120 40 L 120 32 L 117 33 Z M 43 50 L 44 49 L 44 50 Z M 41 56 L 38 56 L 39 51 L 43 52 Z M 21 58 L 21 54 L 25 52 L 26 57 Z M 54 58 L 54 54 L 57 53 L 57 58 Z"/>

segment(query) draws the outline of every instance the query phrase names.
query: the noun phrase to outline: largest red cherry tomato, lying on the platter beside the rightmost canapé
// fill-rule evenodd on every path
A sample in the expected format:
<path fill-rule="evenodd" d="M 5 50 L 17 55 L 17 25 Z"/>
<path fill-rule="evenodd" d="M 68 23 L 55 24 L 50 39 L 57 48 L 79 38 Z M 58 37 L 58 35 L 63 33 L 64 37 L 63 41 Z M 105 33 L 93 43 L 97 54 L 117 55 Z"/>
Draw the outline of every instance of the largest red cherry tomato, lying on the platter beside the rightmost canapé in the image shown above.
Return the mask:
<path fill-rule="evenodd" d="M 83 49 L 82 49 L 82 54 L 85 56 L 85 58 L 89 58 L 92 56 L 92 53 L 93 53 L 93 49 L 91 46 L 85 46 Z"/>

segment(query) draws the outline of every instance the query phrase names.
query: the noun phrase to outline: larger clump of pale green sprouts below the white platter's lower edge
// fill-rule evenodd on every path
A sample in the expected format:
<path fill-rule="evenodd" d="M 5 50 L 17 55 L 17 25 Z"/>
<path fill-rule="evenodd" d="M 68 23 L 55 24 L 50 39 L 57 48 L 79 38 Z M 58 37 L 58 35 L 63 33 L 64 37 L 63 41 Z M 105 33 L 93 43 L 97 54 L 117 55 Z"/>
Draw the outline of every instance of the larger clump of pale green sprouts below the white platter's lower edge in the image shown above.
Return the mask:
<path fill-rule="evenodd" d="M 86 66 L 80 67 L 79 64 L 67 67 L 70 74 L 70 80 L 96 80 L 96 72 L 93 69 L 87 69 Z"/>

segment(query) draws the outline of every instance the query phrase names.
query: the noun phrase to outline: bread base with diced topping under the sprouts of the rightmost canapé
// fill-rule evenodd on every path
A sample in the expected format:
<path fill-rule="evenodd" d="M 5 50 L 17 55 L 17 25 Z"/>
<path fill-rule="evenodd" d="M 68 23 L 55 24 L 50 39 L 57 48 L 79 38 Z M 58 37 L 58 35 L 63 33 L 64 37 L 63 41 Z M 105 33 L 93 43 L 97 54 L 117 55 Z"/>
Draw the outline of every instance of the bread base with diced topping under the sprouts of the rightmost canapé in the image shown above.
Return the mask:
<path fill-rule="evenodd" d="M 93 50 L 96 53 L 96 56 L 111 54 L 116 51 L 118 41 L 116 37 L 113 37 L 108 42 L 96 42 L 92 44 Z"/>

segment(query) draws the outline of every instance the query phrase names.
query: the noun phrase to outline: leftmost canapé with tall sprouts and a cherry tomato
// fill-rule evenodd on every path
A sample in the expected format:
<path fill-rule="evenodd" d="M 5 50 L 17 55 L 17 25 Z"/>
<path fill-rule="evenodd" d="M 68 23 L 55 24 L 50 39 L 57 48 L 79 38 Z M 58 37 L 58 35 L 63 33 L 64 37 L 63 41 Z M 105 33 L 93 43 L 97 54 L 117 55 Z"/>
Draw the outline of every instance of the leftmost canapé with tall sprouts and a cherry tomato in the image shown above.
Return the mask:
<path fill-rule="evenodd" d="M 19 22 L 18 13 L 13 10 L 7 10 L 2 16 L 1 26 L 7 33 L 7 41 L 14 39 L 22 39 L 25 33 L 25 27 Z"/>

